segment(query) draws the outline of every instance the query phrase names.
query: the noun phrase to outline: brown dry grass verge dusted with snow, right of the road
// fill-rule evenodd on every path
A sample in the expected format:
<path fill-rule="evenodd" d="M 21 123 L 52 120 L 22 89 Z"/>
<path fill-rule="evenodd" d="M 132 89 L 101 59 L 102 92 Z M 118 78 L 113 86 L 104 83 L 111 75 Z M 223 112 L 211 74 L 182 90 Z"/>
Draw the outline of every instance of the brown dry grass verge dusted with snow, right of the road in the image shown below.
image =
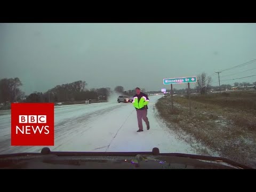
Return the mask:
<path fill-rule="evenodd" d="M 244 98 L 242 93 L 193 96 L 192 115 L 189 115 L 188 99 L 185 97 L 174 97 L 174 110 L 171 110 L 170 98 L 159 99 L 156 107 L 166 122 L 177 125 L 197 142 L 217 151 L 222 157 L 256 168 L 254 97 L 252 93 L 245 93 Z M 244 105 L 249 101 L 251 105 Z M 230 106 L 231 102 L 234 105 Z M 243 102 L 246 111 L 241 110 L 241 103 L 237 102 Z M 171 127 L 177 130 L 177 126 Z M 198 151 L 203 153 L 201 149 Z"/>

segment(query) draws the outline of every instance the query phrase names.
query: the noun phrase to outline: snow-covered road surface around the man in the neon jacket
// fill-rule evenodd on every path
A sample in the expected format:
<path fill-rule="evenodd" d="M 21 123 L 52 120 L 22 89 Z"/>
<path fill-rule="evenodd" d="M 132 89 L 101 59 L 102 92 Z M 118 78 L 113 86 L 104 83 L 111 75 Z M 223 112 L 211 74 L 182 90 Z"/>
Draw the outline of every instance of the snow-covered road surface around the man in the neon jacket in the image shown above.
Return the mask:
<path fill-rule="evenodd" d="M 57 106 L 55 114 L 54 151 L 151 151 L 195 154 L 156 116 L 154 104 L 161 95 L 151 96 L 148 110 L 150 130 L 138 130 L 132 103 L 115 100 L 90 105 Z M 39 152 L 44 146 L 11 146 L 11 115 L 0 115 L 0 154 Z M 47 147 L 47 146 L 45 146 Z"/>

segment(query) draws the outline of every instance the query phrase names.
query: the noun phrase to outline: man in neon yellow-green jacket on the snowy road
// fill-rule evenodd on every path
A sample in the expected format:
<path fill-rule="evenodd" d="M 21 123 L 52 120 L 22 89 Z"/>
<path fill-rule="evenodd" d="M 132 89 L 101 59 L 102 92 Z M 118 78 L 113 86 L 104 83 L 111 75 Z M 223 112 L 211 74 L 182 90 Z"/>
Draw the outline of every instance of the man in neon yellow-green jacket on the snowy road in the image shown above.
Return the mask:
<path fill-rule="evenodd" d="M 135 91 L 137 94 L 133 96 L 132 103 L 137 111 L 137 119 L 139 125 L 139 130 L 137 132 L 141 132 L 143 131 L 142 119 L 147 125 L 147 130 L 149 130 L 149 121 L 147 117 L 149 99 L 147 94 L 140 92 L 139 87 L 136 87 Z"/>

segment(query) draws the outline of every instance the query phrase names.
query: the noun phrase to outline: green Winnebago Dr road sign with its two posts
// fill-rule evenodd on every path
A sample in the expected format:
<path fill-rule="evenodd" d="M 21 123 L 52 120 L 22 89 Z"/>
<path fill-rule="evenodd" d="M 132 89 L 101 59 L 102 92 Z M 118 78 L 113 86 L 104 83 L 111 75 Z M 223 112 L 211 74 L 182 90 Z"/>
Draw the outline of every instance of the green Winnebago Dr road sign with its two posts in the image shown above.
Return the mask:
<path fill-rule="evenodd" d="M 191 115 L 191 101 L 190 101 L 190 83 L 196 83 L 197 78 L 196 76 L 193 77 L 177 77 L 177 78 L 165 78 L 163 79 L 164 85 L 171 84 L 171 102 L 172 102 L 172 109 L 173 109 L 173 93 L 172 93 L 172 84 L 181 84 L 187 83 L 188 84 L 188 102 L 189 102 L 189 114 Z"/>

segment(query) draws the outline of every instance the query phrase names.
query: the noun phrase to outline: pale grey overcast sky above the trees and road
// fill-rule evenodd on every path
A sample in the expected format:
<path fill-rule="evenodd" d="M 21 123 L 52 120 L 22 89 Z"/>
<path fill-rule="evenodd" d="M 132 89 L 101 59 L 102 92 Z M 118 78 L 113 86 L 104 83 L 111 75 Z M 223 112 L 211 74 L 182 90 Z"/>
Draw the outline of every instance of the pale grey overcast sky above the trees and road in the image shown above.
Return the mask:
<path fill-rule="evenodd" d="M 212 75 L 253 59 L 255 23 L 0 24 L 0 79 L 19 77 L 26 94 L 78 80 L 87 88 L 161 90 L 169 88 L 163 78 Z M 253 68 L 256 62 L 220 76 L 248 69 L 222 79 L 256 75 Z"/>

